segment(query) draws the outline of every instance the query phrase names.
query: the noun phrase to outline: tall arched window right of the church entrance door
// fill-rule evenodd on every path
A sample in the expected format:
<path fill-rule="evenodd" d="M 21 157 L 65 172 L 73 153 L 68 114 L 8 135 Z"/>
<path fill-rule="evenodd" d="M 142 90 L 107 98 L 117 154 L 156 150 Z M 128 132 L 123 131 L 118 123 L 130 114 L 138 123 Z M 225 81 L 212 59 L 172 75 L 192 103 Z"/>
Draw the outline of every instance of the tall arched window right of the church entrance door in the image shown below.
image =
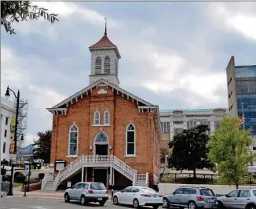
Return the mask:
<path fill-rule="evenodd" d="M 126 127 L 126 155 L 135 155 L 135 128 L 133 124 L 128 124 Z"/>

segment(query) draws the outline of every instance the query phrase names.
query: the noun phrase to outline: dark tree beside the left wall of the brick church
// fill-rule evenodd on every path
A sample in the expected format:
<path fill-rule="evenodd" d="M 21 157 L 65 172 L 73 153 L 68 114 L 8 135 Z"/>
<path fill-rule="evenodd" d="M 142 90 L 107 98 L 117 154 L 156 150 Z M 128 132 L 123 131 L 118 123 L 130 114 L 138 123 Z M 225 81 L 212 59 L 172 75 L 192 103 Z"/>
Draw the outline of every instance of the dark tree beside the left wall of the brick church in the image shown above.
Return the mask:
<path fill-rule="evenodd" d="M 37 141 L 34 140 L 34 146 L 36 148 L 33 151 L 33 158 L 44 160 L 46 164 L 49 164 L 52 131 L 38 132 L 38 136 L 39 139 Z"/>

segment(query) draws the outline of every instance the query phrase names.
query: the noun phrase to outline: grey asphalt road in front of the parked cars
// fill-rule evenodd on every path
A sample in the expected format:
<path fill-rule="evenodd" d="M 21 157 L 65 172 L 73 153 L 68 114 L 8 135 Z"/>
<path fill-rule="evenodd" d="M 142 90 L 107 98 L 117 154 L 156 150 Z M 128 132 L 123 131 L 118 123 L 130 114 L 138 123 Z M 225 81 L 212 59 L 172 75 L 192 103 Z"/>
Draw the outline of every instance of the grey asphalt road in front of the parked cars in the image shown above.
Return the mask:
<path fill-rule="evenodd" d="M 73 209 L 73 208 L 116 208 L 116 209 L 130 209 L 132 207 L 115 206 L 112 202 L 108 201 L 104 207 L 99 204 L 88 204 L 82 206 L 79 202 L 65 203 L 64 200 L 47 200 L 47 199 L 36 199 L 36 198 L 24 198 L 24 197 L 6 197 L 1 198 L 1 209 Z M 152 208 L 152 207 L 144 207 Z M 159 207 L 161 208 L 161 207 Z"/>

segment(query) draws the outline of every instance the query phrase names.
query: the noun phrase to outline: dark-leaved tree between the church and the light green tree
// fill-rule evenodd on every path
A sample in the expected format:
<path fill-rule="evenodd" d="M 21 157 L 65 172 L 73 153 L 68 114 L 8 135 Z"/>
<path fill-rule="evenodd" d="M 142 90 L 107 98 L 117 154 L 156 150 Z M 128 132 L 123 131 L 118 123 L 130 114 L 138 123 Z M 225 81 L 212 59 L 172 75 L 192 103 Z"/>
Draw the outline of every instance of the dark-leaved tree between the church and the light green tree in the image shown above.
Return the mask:
<path fill-rule="evenodd" d="M 193 171 L 194 178 L 196 178 L 196 169 L 213 168 L 214 164 L 207 158 L 209 152 L 206 147 L 209 140 L 207 131 L 209 131 L 207 125 L 199 124 L 174 136 L 174 140 L 169 143 L 172 149 L 169 167 L 176 168 L 177 171 L 183 169 Z"/>

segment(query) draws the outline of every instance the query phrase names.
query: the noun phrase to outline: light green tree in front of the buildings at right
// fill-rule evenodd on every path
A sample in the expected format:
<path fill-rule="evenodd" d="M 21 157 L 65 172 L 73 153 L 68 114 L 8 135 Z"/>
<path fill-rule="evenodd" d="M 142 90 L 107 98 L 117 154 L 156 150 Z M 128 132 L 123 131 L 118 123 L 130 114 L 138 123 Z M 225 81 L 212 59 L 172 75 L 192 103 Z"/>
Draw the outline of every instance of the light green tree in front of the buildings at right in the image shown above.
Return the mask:
<path fill-rule="evenodd" d="M 210 137 L 207 147 L 209 159 L 216 164 L 219 182 L 236 185 L 238 189 L 245 175 L 247 166 L 255 155 L 248 151 L 252 144 L 251 130 L 240 130 L 239 117 L 225 117 L 220 121 L 220 128 Z"/>

